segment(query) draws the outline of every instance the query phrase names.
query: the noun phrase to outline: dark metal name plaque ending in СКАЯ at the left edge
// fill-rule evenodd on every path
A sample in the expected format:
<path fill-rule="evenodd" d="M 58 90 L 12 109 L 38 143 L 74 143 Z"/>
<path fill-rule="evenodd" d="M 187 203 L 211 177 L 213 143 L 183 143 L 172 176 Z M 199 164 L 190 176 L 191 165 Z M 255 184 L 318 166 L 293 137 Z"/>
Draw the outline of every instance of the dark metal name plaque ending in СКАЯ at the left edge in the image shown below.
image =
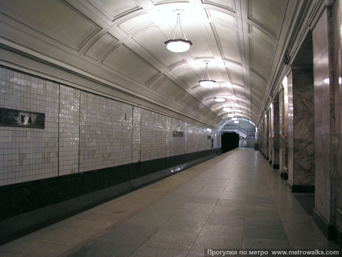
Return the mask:
<path fill-rule="evenodd" d="M 0 126 L 44 129 L 45 114 L 0 108 Z"/>

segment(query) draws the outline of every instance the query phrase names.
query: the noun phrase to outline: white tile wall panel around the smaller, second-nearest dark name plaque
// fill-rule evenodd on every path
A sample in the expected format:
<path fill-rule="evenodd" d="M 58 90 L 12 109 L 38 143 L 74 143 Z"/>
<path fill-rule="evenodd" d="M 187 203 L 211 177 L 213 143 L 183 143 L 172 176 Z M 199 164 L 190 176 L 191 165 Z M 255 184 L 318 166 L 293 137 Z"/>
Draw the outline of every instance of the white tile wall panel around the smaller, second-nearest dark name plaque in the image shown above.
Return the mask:
<path fill-rule="evenodd" d="M 184 140 L 184 128 L 185 122 L 170 118 L 170 155 L 182 155 L 185 153 L 185 140 Z M 173 131 L 180 131 L 183 132 L 183 137 L 174 137 L 172 136 Z"/>

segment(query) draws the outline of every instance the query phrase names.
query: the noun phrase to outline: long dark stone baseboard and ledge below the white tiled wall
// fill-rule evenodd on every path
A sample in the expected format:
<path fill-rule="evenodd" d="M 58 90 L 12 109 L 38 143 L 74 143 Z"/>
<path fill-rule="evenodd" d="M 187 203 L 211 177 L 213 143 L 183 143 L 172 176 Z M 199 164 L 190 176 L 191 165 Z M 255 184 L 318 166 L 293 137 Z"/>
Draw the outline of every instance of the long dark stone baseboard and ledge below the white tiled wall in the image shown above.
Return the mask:
<path fill-rule="evenodd" d="M 0 245 L 222 154 L 206 150 L 0 187 Z"/>

